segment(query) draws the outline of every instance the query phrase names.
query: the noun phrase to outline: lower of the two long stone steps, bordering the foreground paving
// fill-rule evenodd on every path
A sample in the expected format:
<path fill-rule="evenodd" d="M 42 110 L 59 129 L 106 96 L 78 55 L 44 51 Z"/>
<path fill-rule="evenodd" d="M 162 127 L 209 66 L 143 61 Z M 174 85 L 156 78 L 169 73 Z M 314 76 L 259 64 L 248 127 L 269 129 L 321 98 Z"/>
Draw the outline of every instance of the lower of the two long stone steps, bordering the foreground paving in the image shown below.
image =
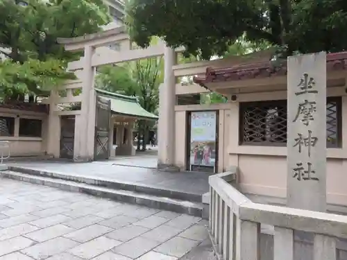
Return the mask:
<path fill-rule="evenodd" d="M 97 187 L 85 183 L 71 182 L 68 180 L 58 180 L 51 177 L 41 177 L 36 175 L 29 175 L 26 173 L 17 173 L 14 171 L 1 171 L 0 177 L 7 177 L 12 180 L 20 180 L 22 182 L 31 182 L 33 184 L 56 187 L 65 191 L 87 193 L 93 196 L 110 198 L 112 200 L 126 203 L 144 205 L 155 209 L 176 211 L 178 213 L 189 214 L 192 216 L 201 217 L 203 211 L 203 205 L 199 202 L 189 202 L 186 200 L 153 196 L 136 191 Z"/>

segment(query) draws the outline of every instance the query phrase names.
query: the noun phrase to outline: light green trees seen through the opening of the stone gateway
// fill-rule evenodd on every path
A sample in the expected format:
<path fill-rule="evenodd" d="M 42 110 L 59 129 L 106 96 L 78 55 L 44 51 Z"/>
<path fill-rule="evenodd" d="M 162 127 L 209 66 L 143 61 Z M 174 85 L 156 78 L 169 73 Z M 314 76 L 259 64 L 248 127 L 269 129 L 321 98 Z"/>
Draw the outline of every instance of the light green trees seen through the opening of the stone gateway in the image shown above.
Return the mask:
<path fill-rule="evenodd" d="M 119 66 L 105 66 L 96 76 L 96 87 L 128 96 L 137 96 L 139 104 L 156 114 L 159 105 L 159 85 L 163 80 L 162 58 L 149 58 L 128 62 Z M 144 140 L 142 147 L 137 141 L 137 150 L 146 150 L 149 130 L 153 122 L 137 121 L 138 140 Z"/>

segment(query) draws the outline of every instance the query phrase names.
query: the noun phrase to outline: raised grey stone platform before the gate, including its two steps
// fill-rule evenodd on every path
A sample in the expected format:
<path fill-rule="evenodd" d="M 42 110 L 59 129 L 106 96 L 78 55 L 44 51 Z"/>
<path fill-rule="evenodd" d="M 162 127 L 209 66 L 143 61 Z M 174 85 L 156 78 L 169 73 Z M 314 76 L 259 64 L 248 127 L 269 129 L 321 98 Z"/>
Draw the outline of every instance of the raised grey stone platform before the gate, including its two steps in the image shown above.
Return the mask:
<path fill-rule="evenodd" d="M 60 171 L 55 166 L 60 166 Z M 69 166 L 69 172 L 61 171 L 66 166 Z M 99 174 L 95 173 L 95 167 L 99 168 Z M 1 172 L 2 177 L 193 216 L 202 216 L 202 196 L 208 191 L 208 175 L 204 173 L 163 173 L 101 162 L 37 162 L 10 164 L 8 168 L 9 171 Z M 108 174 L 104 171 L 106 168 Z M 111 170 L 118 171 L 111 174 Z"/>

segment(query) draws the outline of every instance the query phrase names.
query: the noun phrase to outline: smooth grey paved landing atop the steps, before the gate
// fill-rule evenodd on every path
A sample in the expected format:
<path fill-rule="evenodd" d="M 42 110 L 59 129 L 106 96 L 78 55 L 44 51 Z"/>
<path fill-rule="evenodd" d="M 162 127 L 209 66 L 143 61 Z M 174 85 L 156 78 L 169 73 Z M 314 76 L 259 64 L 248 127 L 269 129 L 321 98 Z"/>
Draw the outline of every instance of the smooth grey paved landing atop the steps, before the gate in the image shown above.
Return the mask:
<path fill-rule="evenodd" d="M 151 157 L 149 157 L 151 159 Z M 144 158 L 142 158 L 144 159 Z M 135 160 L 135 159 L 134 159 Z M 141 160 L 141 158 L 138 158 Z M 112 161 L 105 162 L 8 162 L 8 166 L 20 166 L 38 171 L 62 173 L 65 175 L 80 175 L 84 177 L 101 177 L 117 182 L 133 182 L 147 184 L 151 187 L 183 191 L 202 195 L 209 191 L 208 175 L 205 173 L 167 173 L 153 168 L 112 165 Z"/>

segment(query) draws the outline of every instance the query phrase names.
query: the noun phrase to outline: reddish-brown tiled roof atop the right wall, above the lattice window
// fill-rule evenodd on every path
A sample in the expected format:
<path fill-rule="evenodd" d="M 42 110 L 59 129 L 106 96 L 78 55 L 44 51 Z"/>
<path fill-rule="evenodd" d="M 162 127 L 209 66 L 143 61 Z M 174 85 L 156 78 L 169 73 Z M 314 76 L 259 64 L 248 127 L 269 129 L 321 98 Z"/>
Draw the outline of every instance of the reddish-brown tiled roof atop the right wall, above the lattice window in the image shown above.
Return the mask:
<path fill-rule="evenodd" d="M 347 69 L 347 52 L 327 54 L 327 71 Z M 237 65 L 224 69 L 206 69 L 205 76 L 197 76 L 194 83 L 220 83 L 224 81 L 249 80 L 287 75 L 287 62 L 282 67 L 273 67 L 269 62 Z"/>

